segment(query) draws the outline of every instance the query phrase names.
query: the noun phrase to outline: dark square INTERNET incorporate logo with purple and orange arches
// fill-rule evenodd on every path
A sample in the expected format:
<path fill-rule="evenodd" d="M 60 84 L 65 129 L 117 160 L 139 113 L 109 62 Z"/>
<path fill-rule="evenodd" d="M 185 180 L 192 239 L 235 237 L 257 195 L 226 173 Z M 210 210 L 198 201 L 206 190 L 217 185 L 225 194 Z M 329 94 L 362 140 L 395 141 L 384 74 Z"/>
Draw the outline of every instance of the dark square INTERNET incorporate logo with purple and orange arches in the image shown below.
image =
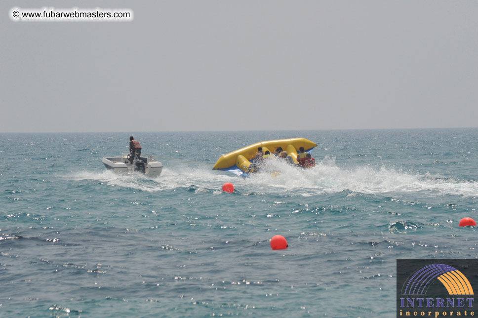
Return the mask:
<path fill-rule="evenodd" d="M 478 260 L 439 261 L 397 260 L 397 317 L 475 316 Z"/>

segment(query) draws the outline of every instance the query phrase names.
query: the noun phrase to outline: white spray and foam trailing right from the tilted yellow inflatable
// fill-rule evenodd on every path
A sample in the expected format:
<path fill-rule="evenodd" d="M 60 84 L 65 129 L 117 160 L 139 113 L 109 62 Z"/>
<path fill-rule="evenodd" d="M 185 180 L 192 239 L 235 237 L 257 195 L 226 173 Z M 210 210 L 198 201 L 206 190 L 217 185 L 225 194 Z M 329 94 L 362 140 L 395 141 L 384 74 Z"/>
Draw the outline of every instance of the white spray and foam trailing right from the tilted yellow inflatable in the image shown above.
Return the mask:
<path fill-rule="evenodd" d="M 276 172 L 276 173 L 273 173 Z M 325 158 L 312 169 L 298 169 L 274 160 L 263 172 L 240 180 L 251 191 L 287 191 L 303 196 L 352 191 L 355 193 L 414 193 L 431 195 L 478 196 L 478 182 L 444 178 L 442 175 L 412 173 L 394 167 L 362 165 L 339 167 L 334 159 Z M 236 181 L 236 184 L 238 181 Z M 239 187 L 239 185 L 237 185 Z"/>

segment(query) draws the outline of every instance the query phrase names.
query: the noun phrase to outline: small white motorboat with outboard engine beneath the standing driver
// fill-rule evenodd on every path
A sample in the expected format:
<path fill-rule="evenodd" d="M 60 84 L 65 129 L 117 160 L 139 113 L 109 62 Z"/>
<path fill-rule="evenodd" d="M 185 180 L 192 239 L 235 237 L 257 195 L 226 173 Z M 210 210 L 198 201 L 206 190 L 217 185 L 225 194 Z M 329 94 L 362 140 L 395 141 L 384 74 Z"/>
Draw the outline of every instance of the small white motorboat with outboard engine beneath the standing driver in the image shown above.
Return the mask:
<path fill-rule="evenodd" d="M 133 163 L 130 163 L 130 154 L 122 153 L 120 157 L 104 157 L 101 162 L 107 169 L 112 169 L 115 173 L 133 173 L 141 172 L 150 177 L 159 177 L 162 171 L 162 163 L 153 159 L 153 156 L 136 157 Z"/>

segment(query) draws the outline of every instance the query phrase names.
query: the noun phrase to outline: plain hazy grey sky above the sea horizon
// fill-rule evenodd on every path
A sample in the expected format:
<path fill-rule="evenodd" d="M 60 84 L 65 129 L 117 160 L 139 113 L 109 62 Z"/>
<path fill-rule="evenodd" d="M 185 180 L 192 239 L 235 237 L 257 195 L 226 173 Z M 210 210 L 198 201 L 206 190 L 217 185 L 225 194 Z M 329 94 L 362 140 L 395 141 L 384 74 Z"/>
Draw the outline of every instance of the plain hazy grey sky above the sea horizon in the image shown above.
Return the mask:
<path fill-rule="evenodd" d="M 134 19 L 10 19 L 44 6 Z M 3 0 L 0 15 L 0 132 L 478 127 L 476 0 Z"/>

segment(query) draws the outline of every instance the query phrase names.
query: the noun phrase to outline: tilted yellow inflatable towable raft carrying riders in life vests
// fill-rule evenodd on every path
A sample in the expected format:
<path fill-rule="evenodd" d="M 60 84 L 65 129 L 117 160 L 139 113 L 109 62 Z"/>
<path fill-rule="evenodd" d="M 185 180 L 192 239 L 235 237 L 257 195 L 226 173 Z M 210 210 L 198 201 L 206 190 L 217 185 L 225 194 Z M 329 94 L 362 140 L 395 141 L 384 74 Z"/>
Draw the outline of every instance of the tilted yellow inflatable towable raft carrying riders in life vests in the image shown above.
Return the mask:
<path fill-rule="evenodd" d="M 230 152 L 229 154 L 222 155 L 212 169 L 230 171 L 240 175 L 246 172 L 251 165 L 258 147 L 262 147 L 264 153 L 269 150 L 271 154 L 276 153 L 276 150 L 280 147 L 287 152 L 288 157 L 290 157 L 289 160 L 297 163 L 297 154 L 299 153 L 300 147 L 304 147 L 306 152 L 310 152 L 314 147 L 317 147 L 317 144 L 305 138 L 261 141 Z"/>

